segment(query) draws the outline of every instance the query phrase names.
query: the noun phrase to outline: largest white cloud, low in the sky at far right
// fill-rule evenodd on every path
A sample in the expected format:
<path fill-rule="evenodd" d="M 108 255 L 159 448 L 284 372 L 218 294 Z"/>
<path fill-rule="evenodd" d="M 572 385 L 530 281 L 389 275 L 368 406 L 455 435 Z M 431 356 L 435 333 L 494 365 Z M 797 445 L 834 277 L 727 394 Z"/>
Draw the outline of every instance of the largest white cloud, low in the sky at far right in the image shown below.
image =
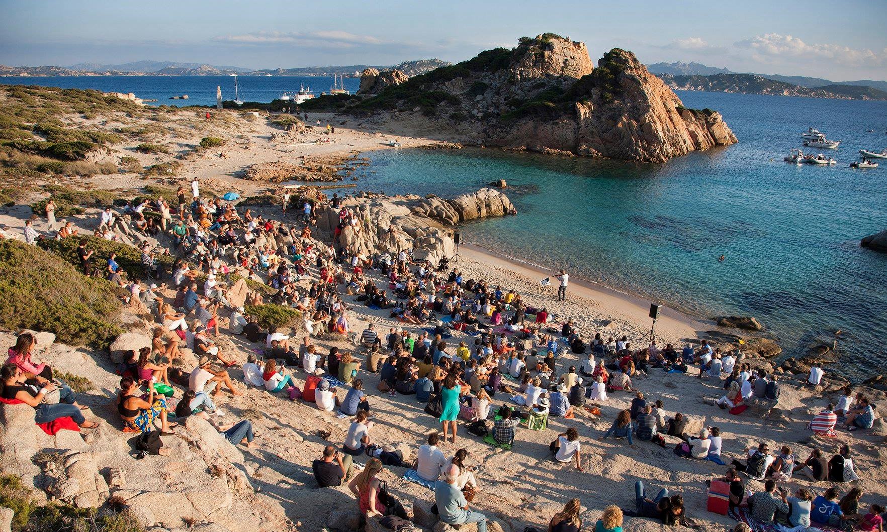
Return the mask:
<path fill-rule="evenodd" d="M 735 43 L 742 51 L 750 51 L 752 59 L 768 64 L 782 59 L 828 59 L 844 66 L 880 65 L 887 63 L 887 49 L 880 53 L 856 50 L 840 44 L 808 44 L 792 35 L 765 34 Z"/>

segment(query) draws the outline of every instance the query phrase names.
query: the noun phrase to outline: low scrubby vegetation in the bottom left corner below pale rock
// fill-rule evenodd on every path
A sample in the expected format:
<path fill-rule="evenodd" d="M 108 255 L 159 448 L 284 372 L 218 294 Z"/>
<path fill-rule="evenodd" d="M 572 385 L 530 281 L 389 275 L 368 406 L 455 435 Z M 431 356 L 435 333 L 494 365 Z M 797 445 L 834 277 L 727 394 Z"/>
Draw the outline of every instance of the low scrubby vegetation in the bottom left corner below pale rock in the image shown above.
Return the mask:
<path fill-rule="evenodd" d="M 0 475 L 0 506 L 11 508 L 12 532 L 144 532 L 128 511 L 100 512 L 96 508 L 77 508 L 55 502 L 44 504 L 33 496 L 21 479 L 13 474 Z"/>

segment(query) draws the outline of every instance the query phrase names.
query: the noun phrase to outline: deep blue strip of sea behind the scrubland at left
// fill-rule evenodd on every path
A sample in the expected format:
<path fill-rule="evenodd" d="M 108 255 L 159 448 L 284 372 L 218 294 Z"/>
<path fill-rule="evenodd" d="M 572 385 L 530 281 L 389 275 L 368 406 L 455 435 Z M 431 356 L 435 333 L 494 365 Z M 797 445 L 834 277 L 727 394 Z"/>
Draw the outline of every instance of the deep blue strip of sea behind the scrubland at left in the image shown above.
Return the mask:
<path fill-rule="evenodd" d="M 353 94 L 360 86 L 359 78 L 345 78 L 345 89 Z M 95 89 L 103 92 L 132 92 L 138 98 L 156 99 L 152 106 L 215 106 L 216 87 L 222 98 L 234 99 L 234 78 L 229 75 L 107 75 L 58 77 L 0 77 L 0 84 L 42 85 L 62 89 Z M 237 78 L 240 99 L 247 102 L 270 102 L 283 92 L 299 90 L 300 85 L 319 94 L 333 86 L 332 77 L 322 76 L 247 76 Z M 186 100 L 171 96 L 188 95 Z"/>

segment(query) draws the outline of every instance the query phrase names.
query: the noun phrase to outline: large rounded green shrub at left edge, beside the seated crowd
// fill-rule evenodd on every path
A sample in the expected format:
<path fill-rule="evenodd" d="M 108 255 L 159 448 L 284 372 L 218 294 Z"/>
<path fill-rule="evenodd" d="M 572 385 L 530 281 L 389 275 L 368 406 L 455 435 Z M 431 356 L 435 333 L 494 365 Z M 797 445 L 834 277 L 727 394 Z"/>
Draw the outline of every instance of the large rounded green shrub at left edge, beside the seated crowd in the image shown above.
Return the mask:
<path fill-rule="evenodd" d="M 75 239 L 60 242 L 69 240 L 76 246 Z M 79 262 L 76 256 L 67 260 Z M 0 240 L 0 293 L 4 329 L 49 331 L 59 342 L 99 348 L 122 332 L 121 303 L 110 282 L 86 278 L 56 254 L 35 246 Z"/>

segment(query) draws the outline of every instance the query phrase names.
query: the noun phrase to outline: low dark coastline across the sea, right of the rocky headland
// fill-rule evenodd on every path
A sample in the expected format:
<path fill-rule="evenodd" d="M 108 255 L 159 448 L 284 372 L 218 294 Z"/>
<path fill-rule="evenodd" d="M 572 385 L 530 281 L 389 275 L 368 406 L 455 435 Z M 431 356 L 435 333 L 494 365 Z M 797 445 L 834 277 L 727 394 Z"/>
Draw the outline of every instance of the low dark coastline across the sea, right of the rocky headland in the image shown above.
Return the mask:
<path fill-rule="evenodd" d="M 887 100 L 887 92 L 860 85 L 833 83 L 823 87 L 802 87 L 757 74 L 672 75 L 656 74 L 675 90 L 803 96 L 806 98 Z"/>

